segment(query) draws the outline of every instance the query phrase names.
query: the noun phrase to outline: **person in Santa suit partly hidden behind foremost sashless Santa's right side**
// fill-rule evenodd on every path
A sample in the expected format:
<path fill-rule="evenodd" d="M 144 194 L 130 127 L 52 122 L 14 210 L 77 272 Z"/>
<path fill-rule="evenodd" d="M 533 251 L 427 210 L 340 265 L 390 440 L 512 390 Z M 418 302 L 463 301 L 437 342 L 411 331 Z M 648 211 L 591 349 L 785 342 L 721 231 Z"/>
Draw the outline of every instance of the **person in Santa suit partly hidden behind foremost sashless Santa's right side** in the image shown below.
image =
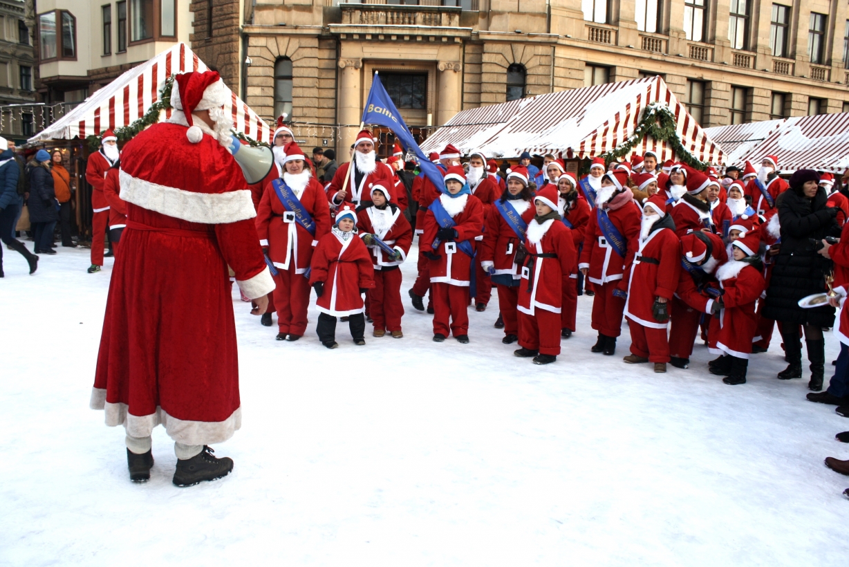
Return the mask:
<path fill-rule="evenodd" d="M 548 164 L 548 166 L 551 166 L 551 164 Z M 558 177 L 557 192 L 557 212 L 560 215 L 560 222 L 563 222 L 571 231 L 572 244 L 575 244 L 576 254 L 580 255 L 584 230 L 589 222 L 589 205 L 587 205 L 586 199 L 578 194 L 577 182 L 573 173 L 564 172 Z M 580 281 L 578 276 L 581 276 Z M 563 311 L 560 312 L 560 336 L 564 339 L 571 337 L 576 330 L 578 288 L 582 283 L 582 278 L 583 274 L 578 272 L 576 263 L 572 267 L 569 277 L 563 280 Z"/>

